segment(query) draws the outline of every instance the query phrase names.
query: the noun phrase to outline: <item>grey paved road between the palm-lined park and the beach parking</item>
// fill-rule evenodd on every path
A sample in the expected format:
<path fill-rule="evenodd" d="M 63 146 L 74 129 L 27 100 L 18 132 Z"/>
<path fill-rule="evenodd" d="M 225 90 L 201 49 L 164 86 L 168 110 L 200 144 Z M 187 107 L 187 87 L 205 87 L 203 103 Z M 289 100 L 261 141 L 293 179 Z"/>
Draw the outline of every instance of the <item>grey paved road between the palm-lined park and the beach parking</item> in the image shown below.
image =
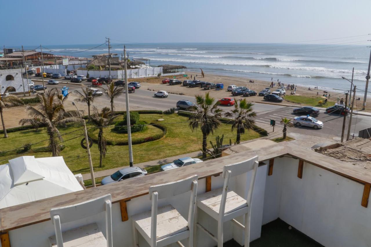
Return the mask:
<path fill-rule="evenodd" d="M 60 80 L 60 79 L 59 79 Z M 61 80 L 62 81 L 62 80 Z M 36 83 L 39 84 L 39 83 Z M 89 82 L 84 81 L 84 85 L 90 85 Z M 56 85 L 56 88 L 60 89 L 65 84 Z M 78 85 L 68 85 L 69 90 L 81 90 L 83 86 Z M 171 107 L 175 107 L 176 102 L 181 99 L 188 99 L 191 102 L 195 102 L 194 97 L 185 96 L 185 95 L 174 95 L 169 94 L 168 98 L 157 98 L 154 96 L 154 91 L 137 89 L 135 93 L 131 93 L 129 96 L 130 106 L 137 106 L 142 108 L 149 109 L 159 109 L 166 110 Z M 109 105 L 109 100 L 106 96 L 101 96 L 101 99 L 107 100 L 107 105 Z M 125 95 L 120 96 L 118 99 L 115 99 L 115 102 L 125 104 Z M 232 107 L 220 106 L 224 111 L 231 110 Z M 292 114 L 292 109 L 294 107 L 285 107 L 278 105 L 269 105 L 262 103 L 255 103 L 254 111 L 257 112 L 256 122 L 267 123 L 269 124 L 270 119 L 275 119 L 276 124 L 279 124 L 281 117 L 294 118 L 296 115 Z M 339 138 L 341 136 L 343 116 L 338 114 L 327 114 L 321 110 L 318 120 L 324 122 L 324 127 L 322 129 L 312 129 L 308 127 L 293 127 L 289 128 L 289 132 L 321 136 L 326 138 Z M 347 121 L 349 121 L 349 116 L 347 116 Z M 352 120 L 351 134 L 355 132 L 355 135 L 358 134 L 358 131 L 365 129 L 371 126 L 371 118 L 368 116 L 355 115 Z M 347 133 L 348 124 L 345 127 L 345 135 Z M 272 129 L 267 129 L 268 132 L 271 132 Z"/>

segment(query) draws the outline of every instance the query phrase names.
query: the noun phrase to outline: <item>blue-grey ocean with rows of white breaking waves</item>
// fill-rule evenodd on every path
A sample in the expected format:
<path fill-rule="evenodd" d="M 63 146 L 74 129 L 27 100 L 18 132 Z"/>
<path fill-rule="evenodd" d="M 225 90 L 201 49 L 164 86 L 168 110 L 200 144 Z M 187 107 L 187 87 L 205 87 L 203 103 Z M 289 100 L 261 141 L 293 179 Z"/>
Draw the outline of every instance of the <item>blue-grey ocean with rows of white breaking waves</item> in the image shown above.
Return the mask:
<path fill-rule="evenodd" d="M 324 90 L 349 90 L 350 83 L 342 77 L 351 80 L 354 67 L 354 84 L 357 89 L 364 90 L 370 48 L 359 39 L 353 40 L 328 40 L 330 42 L 319 44 L 143 43 L 127 44 L 126 47 L 129 58 L 148 58 L 151 66 L 184 65 L 187 70 L 199 74 L 201 68 L 205 73 L 272 79 L 311 88 L 318 86 Z M 111 52 L 121 56 L 123 45 L 111 45 Z M 98 45 L 45 45 L 47 49 L 43 51 L 50 49 L 50 53 L 56 55 L 75 57 L 108 52 L 106 45 L 87 50 L 95 46 Z"/>

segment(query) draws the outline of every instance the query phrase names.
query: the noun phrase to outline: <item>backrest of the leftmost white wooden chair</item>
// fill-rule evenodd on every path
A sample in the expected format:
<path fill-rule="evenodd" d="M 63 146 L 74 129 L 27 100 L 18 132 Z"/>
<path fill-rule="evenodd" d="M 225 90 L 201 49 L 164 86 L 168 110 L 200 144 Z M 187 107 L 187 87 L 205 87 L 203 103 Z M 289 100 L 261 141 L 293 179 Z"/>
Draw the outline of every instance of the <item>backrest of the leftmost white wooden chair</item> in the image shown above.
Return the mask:
<path fill-rule="evenodd" d="M 63 247 L 62 228 L 60 224 L 80 220 L 101 212 L 106 212 L 107 246 L 112 247 L 111 194 L 103 195 L 78 204 L 50 209 L 50 218 L 54 224 L 58 247 Z"/>

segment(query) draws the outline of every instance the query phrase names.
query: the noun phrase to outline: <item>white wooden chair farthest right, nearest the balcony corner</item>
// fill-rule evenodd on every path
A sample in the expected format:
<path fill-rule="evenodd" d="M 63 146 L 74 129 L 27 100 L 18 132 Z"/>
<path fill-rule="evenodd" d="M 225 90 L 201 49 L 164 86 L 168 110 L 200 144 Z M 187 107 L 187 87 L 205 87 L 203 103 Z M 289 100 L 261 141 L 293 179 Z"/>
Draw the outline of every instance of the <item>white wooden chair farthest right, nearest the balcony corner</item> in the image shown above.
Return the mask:
<path fill-rule="evenodd" d="M 198 195 L 197 207 L 203 210 L 206 214 L 209 214 L 215 220 L 218 221 L 218 233 L 215 237 L 209 230 L 197 223 L 197 212 L 196 212 L 196 225 L 200 230 L 207 233 L 217 243 L 218 247 L 223 247 L 223 225 L 224 222 L 232 220 L 237 226 L 242 228 L 245 233 L 244 246 L 248 247 L 250 242 L 250 213 L 251 213 L 251 201 L 252 194 L 255 185 L 256 172 L 259 162 L 257 156 L 247 161 L 240 163 L 226 165 L 223 167 L 223 188 L 218 190 L 211 190 L 204 194 Z M 252 177 L 250 182 L 249 191 L 246 198 L 242 198 L 237 195 L 234 191 L 229 189 L 229 181 L 231 177 L 236 175 L 244 174 L 252 170 Z M 245 215 L 244 225 L 235 220 L 236 217 Z M 196 240 L 196 236 L 194 237 Z"/>

